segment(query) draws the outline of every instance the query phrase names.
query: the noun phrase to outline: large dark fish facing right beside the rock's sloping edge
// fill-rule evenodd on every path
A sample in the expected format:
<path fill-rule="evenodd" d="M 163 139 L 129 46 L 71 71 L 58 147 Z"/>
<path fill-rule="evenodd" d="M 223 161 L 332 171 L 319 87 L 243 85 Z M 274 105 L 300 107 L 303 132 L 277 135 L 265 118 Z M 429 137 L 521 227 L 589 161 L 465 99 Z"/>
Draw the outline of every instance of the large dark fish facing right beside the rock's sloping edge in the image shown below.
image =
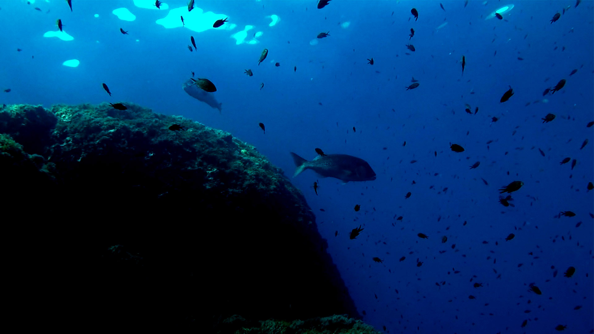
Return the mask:
<path fill-rule="evenodd" d="M 297 167 L 293 177 L 301 174 L 305 169 L 312 169 L 321 177 L 337 178 L 345 183 L 349 181 L 373 181 L 375 179 L 375 172 L 371 169 L 369 163 L 358 157 L 325 155 L 308 161 L 293 152 L 290 153 Z"/>

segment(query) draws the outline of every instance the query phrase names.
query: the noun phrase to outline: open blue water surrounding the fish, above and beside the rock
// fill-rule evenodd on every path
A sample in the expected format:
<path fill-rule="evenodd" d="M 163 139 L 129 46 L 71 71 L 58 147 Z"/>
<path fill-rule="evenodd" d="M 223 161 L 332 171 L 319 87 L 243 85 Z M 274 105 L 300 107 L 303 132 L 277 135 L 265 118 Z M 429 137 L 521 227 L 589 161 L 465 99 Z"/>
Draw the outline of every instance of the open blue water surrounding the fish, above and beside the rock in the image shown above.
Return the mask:
<path fill-rule="evenodd" d="M 314 172 L 292 181 L 316 212 L 365 322 L 391 333 L 551 333 L 559 324 L 592 333 L 594 191 L 586 186 L 594 178 L 594 127 L 586 124 L 594 120 L 594 2 L 443 1 L 444 11 L 433 1 L 334 0 L 321 10 L 315 1 L 205 1 L 196 7 L 238 26 L 200 33 L 165 29 L 155 21 L 166 10 L 132 1 L 72 2 L 72 12 L 65 1 L 0 2 L 0 88 L 11 89 L 0 92 L 0 103 L 134 102 L 229 131 L 289 176 L 289 151 L 361 157 L 375 181 L 319 179 L 318 195 Z M 508 4 L 514 8 L 504 20 L 485 20 Z M 111 14 L 120 7 L 136 20 Z M 280 22 L 270 27 L 272 14 Z M 58 18 L 74 40 L 43 37 Z M 236 45 L 230 35 L 246 24 L 255 27 L 248 37 L 263 35 Z M 258 66 L 264 48 L 268 58 Z M 63 66 L 68 59 L 80 65 Z M 181 89 L 190 71 L 216 84 L 221 114 Z M 411 77 L 420 86 L 406 90 Z M 542 95 L 563 78 L 563 89 Z M 500 103 L 509 86 L 514 95 Z M 466 103 L 478 113 L 467 114 Z M 549 113 L 556 118 L 543 124 Z M 452 152 L 450 143 L 465 151 Z M 576 159 L 573 169 L 560 165 L 565 157 Z M 523 187 L 511 193 L 514 207 L 504 207 L 498 189 L 516 180 Z M 557 218 L 567 210 L 576 216 Z M 364 231 L 350 240 L 359 225 Z M 510 233 L 515 238 L 505 241 Z M 569 266 L 576 273 L 565 278 Z"/>

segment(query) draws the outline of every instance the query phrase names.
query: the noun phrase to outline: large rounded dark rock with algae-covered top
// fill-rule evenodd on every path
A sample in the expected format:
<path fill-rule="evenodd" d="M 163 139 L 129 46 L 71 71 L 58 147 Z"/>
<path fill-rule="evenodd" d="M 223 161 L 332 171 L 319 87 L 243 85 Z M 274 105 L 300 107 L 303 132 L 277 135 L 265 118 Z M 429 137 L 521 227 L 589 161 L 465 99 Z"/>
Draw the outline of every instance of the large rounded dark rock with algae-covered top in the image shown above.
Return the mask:
<path fill-rule="evenodd" d="M 282 171 L 228 133 L 124 104 L 0 109 L 1 199 L 26 218 L 7 231 L 10 264 L 28 268 L 21 313 L 93 327 L 358 316 Z"/>

